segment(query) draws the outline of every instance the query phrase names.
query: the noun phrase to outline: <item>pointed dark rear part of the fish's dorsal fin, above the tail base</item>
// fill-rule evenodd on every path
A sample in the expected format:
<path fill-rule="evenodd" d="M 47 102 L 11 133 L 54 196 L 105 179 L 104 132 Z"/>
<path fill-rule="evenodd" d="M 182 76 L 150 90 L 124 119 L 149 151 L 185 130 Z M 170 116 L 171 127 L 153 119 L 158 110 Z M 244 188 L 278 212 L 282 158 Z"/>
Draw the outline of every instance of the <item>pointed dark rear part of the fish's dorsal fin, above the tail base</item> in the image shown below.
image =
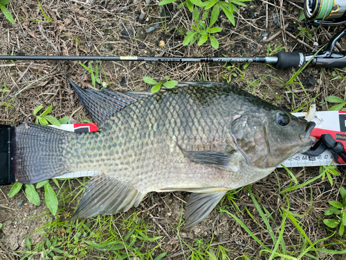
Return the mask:
<path fill-rule="evenodd" d="M 143 98 L 152 96 L 151 92 L 116 92 L 107 88 L 101 91 L 96 89 L 82 89 L 75 85 L 70 79 L 75 92 L 78 94 L 80 103 L 86 111 L 92 116 L 93 121 L 100 127 L 109 116 L 119 112 L 127 105 L 131 105 Z"/>

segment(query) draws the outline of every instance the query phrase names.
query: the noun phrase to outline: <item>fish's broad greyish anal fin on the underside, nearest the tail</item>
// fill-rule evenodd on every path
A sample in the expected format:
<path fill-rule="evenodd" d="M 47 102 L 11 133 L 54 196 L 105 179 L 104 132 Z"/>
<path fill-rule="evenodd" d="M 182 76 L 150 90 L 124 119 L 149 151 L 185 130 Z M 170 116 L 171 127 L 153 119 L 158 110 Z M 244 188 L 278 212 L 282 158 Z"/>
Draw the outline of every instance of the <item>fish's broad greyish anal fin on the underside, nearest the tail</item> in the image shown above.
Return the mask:
<path fill-rule="evenodd" d="M 111 215 L 138 207 L 146 193 L 138 191 L 127 182 L 121 182 L 107 173 L 93 175 L 86 185 L 75 213 L 69 220 L 95 215 Z"/>

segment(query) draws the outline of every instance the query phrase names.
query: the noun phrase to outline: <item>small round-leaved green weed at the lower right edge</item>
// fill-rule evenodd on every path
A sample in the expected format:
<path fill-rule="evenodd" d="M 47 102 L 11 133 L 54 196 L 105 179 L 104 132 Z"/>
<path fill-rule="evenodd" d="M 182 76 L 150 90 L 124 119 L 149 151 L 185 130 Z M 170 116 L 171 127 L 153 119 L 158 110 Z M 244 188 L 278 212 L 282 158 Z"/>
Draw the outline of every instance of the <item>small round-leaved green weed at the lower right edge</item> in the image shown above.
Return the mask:
<path fill-rule="evenodd" d="M 339 236 L 342 236 L 345 232 L 345 226 L 346 226 L 346 189 L 341 187 L 340 188 L 340 195 L 342 202 L 338 201 L 329 201 L 328 203 L 331 205 L 328 209 L 325 210 L 325 215 L 336 215 L 338 219 L 325 219 L 323 220 L 323 223 L 331 228 L 336 228 L 338 225 L 339 227 Z"/>

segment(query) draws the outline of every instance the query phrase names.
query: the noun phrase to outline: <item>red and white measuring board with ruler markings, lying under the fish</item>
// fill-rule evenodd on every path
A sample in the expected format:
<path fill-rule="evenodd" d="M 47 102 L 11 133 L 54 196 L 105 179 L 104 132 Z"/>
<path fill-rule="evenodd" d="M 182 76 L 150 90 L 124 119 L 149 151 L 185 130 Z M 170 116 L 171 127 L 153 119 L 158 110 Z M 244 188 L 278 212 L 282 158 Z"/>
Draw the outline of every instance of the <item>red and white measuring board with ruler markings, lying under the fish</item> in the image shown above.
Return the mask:
<path fill-rule="evenodd" d="M 305 112 L 292 113 L 295 116 L 302 117 L 307 114 Z M 312 130 L 311 136 L 319 139 L 320 135 L 329 133 L 336 141 L 340 141 L 346 147 L 346 111 L 324 111 L 316 112 L 313 122 L 316 127 Z M 58 128 L 71 132 L 93 132 L 97 131 L 98 127 L 95 123 L 75 123 L 67 125 L 50 125 L 53 128 Z M 334 157 L 329 150 L 326 150 L 317 157 L 311 157 L 297 153 L 284 161 L 286 167 L 303 167 L 303 166 L 327 166 L 333 162 L 334 165 L 342 165 L 334 162 Z M 282 166 L 278 166 L 282 167 Z M 83 177 L 92 176 L 100 171 L 78 171 L 75 173 L 67 173 L 58 178 L 68 177 Z"/>

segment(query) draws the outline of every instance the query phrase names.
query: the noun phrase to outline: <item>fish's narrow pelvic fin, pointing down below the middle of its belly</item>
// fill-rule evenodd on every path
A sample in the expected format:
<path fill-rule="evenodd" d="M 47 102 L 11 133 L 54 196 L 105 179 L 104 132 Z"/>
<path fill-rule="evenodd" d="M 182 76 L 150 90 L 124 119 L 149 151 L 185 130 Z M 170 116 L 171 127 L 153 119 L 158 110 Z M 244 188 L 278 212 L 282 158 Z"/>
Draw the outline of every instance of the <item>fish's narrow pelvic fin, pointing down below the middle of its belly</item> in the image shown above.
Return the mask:
<path fill-rule="evenodd" d="M 192 227 L 206 218 L 227 191 L 191 193 L 185 207 L 185 227 Z"/>

